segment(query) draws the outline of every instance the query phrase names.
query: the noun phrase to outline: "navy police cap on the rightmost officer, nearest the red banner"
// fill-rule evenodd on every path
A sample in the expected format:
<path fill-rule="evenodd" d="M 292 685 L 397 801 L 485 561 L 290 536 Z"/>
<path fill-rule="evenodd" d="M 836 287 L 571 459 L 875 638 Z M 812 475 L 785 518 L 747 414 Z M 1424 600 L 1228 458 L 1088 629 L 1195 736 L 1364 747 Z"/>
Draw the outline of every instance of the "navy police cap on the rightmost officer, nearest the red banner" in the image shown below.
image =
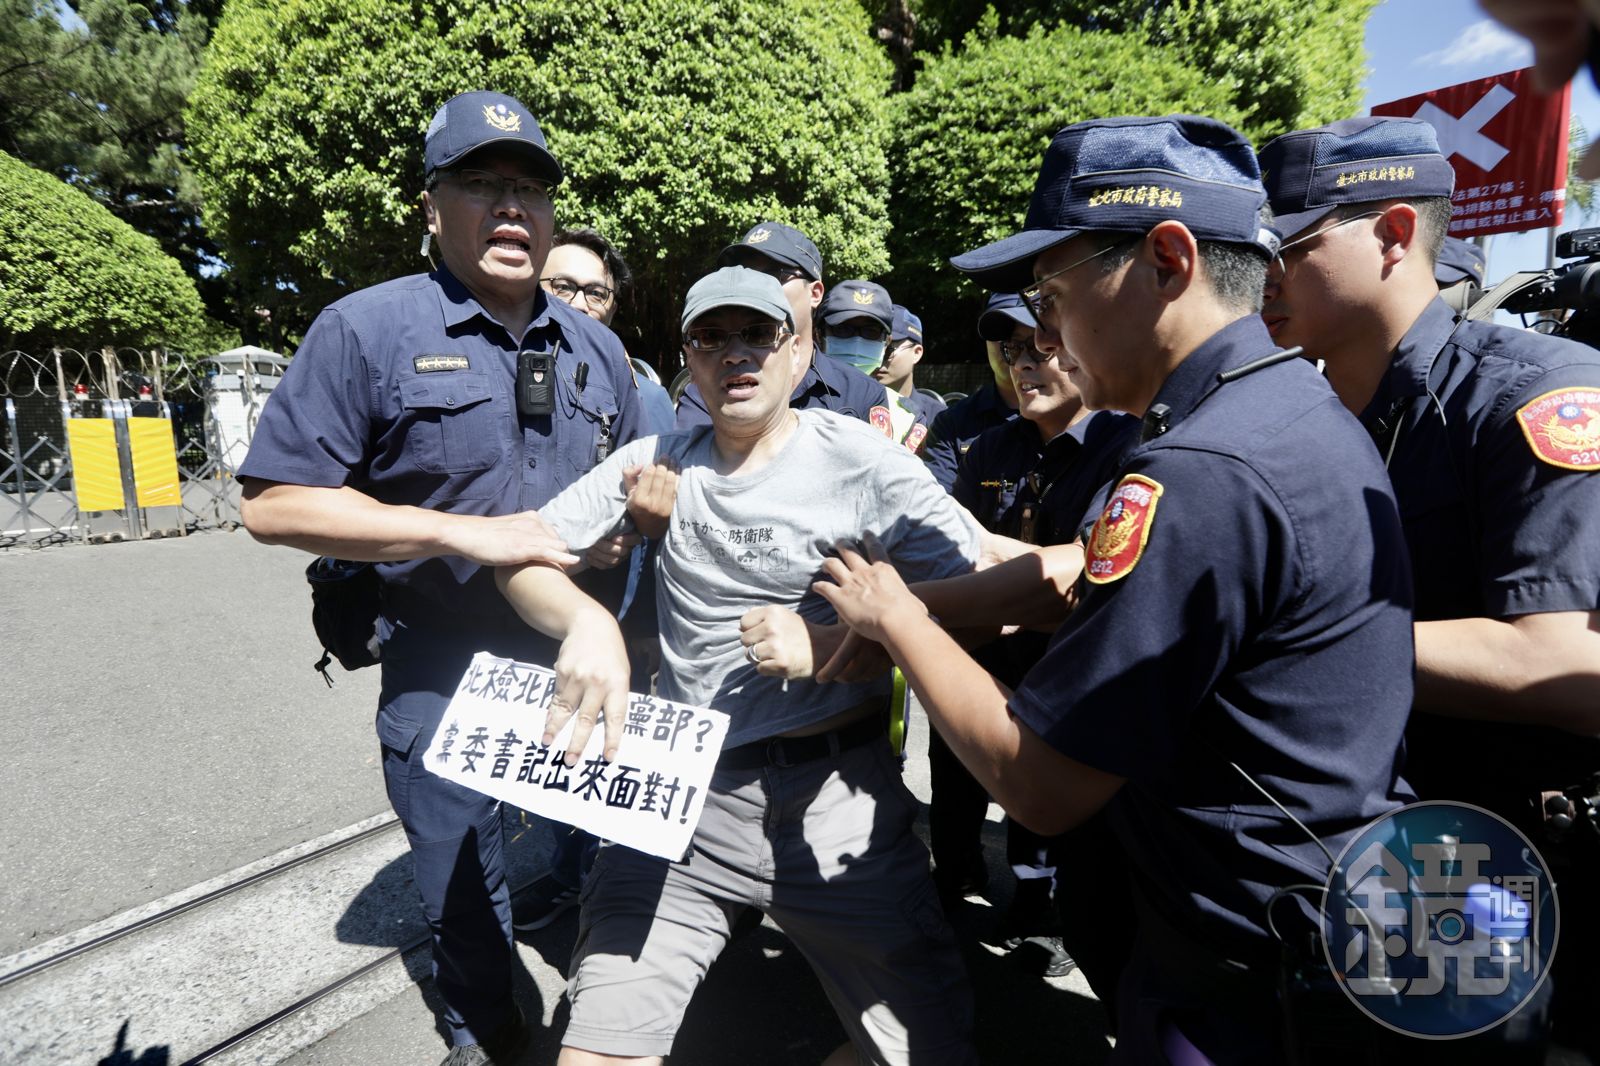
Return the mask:
<path fill-rule="evenodd" d="M 1296 130 L 1261 149 L 1275 226 L 1293 237 L 1344 203 L 1448 197 L 1456 171 L 1421 118 L 1346 118 Z"/>

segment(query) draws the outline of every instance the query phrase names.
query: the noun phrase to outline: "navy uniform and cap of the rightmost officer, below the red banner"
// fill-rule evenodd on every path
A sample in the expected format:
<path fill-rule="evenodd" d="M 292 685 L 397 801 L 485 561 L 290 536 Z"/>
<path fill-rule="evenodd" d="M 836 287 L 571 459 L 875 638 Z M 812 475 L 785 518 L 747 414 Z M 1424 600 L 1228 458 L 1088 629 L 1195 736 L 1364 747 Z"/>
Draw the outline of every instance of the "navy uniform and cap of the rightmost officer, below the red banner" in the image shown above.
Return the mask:
<path fill-rule="evenodd" d="M 1403 163 L 1406 174 L 1339 186 L 1350 160 L 1381 174 Z M 1454 182 L 1432 126 L 1414 120 L 1301 130 L 1266 144 L 1261 163 L 1286 232 L 1342 203 L 1448 197 Z M 1446 238 L 1440 258 L 1440 283 L 1482 282 L 1482 253 L 1470 245 Z M 1395 347 L 1360 419 L 1400 504 L 1418 621 L 1600 610 L 1600 352 L 1466 320 L 1434 299 Z M 1550 842 L 1541 804 L 1541 792 L 1595 773 L 1594 736 L 1424 712 L 1406 730 L 1406 779 L 1418 795 L 1510 820 L 1552 863 L 1557 901 L 1584 900 L 1562 909 L 1554 1016 L 1558 1036 L 1568 1031 L 1600 1056 L 1587 973 L 1600 952 L 1600 924 L 1587 906 L 1600 888 L 1600 848 L 1592 839 Z"/>

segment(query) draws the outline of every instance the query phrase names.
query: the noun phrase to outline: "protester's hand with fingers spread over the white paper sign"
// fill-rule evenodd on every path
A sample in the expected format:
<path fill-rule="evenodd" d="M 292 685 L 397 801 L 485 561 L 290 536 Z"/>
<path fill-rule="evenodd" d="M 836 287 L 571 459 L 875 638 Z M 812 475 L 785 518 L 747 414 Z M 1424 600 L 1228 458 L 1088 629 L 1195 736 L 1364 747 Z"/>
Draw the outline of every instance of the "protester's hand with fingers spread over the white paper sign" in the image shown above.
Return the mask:
<path fill-rule="evenodd" d="M 544 720 L 544 743 L 549 744 L 568 719 L 578 717 L 566 744 L 568 767 L 578 765 L 589 735 L 602 720 L 605 757 L 608 762 L 616 759 L 627 714 L 627 648 L 616 619 L 598 607 L 579 613 L 555 656 L 555 696 Z"/>

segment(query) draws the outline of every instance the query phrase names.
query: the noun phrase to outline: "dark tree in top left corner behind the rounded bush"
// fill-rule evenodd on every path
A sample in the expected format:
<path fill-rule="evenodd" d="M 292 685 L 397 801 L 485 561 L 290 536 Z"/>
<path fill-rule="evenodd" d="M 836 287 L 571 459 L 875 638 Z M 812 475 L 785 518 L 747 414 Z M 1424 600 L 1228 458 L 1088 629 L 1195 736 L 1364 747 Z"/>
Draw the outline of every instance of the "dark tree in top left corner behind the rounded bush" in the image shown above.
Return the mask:
<path fill-rule="evenodd" d="M 227 309 L 182 160 L 182 110 L 216 0 L 0 0 L 0 150 L 155 237 Z"/>

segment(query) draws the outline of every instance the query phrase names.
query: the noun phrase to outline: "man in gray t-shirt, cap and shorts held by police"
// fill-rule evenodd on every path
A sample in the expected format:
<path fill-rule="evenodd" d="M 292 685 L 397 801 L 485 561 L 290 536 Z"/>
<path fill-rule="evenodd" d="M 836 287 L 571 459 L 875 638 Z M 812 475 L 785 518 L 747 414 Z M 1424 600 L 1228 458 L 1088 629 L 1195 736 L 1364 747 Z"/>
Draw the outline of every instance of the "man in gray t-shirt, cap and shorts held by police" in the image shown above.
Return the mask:
<path fill-rule="evenodd" d="M 794 411 L 794 322 L 778 282 L 723 267 L 690 290 L 685 359 L 709 429 L 627 445 L 541 511 L 571 544 L 624 515 L 622 472 L 675 461 L 672 522 L 656 562 L 661 695 L 733 717 L 688 855 L 667 863 L 605 847 L 584 895 L 571 1020 L 560 1061 L 662 1056 L 693 989 L 747 906 L 771 914 L 813 964 L 851 1047 L 838 1061 L 971 1063 L 971 997 L 886 728 L 888 679 L 784 683 L 749 616 L 795 611 L 824 624 L 811 592 L 838 539 L 875 533 L 910 579 L 973 568 L 979 530 L 923 464 L 872 427 Z M 605 712 L 621 738 L 621 637 L 592 637 L 595 611 L 552 567 L 501 571 L 533 626 L 565 639 L 558 698 L 579 749 Z M 741 619 L 746 632 L 741 634 Z M 742 639 L 741 639 L 742 637 Z M 554 731 L 565 722 L 555 715 Z M 830 1058 L 829 1061 L 834 1061 Z"/>

